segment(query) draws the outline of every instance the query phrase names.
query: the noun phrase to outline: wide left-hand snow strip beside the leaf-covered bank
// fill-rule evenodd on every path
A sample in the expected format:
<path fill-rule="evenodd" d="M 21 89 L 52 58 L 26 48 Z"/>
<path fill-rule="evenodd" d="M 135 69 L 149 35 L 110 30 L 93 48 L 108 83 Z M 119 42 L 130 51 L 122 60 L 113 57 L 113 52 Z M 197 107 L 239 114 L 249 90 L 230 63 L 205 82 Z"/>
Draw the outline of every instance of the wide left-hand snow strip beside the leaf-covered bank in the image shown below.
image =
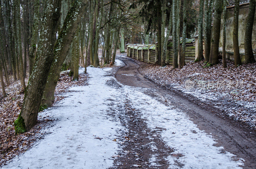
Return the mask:
<path fill-rule="evenodd" d="M 107 69 L 108 70 L 108 69 Z M 4 168 L 108 168 L 117 152 L 119 121 L 106 109 L 113 89 L 105 84 L 103 69 L 88 67 L 89 85 L 71 87 L 67 98 L 42 112 L 56 120 L 48 135 Z M 42 131 L 43 132 L 43 131 Z"/>

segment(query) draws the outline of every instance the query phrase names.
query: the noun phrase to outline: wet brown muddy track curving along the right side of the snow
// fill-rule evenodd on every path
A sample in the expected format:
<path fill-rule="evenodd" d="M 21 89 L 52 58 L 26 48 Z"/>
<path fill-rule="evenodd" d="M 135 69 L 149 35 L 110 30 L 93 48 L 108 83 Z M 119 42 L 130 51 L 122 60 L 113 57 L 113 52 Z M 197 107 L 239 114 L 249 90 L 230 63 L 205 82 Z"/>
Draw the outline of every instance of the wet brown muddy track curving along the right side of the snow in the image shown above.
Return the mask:
<path fill-rule="evenodd" d="M 138 68 L 140 66 L 133 62 L 132 59 L 125 57 L 119 57 L 118 59 L 125 63 L 125 66 L 121 67 L 115 74 L 116 79 L 120 83 L 135 87 L 157 89 L 152 91 L 147 90 L 148 92 L 146 94 L 161 101 L 165 105 L 172 105 L 183 110 L 199 129 L 205 130 L 206 133 L 211 134 L 213 138 L 217 139 L 216 146 L 223 146 L 224 150 L 235 154 L 238 158 L 243 158 L 245 160 L 243 168 L 256 168 L 255 130 L 248 129 L 246 124 L 234 121 L 232 118 L 221 113 L 220 110 L 211 107 L 211 105 L 206 105 L 196 98 L 188 97 L 174 89 L 166 89 L 156 85 L 139 73 Z M 144 123 L 143 121 L 141 123 L 138 121 L 136 125 L 144 126 Z M 129 131 L 138 132 L 136 130 L 138 129 L 131 123 Z M 161 144 L 156 146 L 164 147 Z M 126 147 L 128 146 L 131 145 L 127 144 Z M 166 151 L 160 153 L 163 153 L 162 156 L 164 156 Z M 147 159 L 146 156 L 145 159 Z M 129 159 L 119 158 L 118 160 L 119 163 L 123 164 L 125 161 L 129 161 Z M 161 165 L 157 168 L 166 168 L 166 165 Z"/>

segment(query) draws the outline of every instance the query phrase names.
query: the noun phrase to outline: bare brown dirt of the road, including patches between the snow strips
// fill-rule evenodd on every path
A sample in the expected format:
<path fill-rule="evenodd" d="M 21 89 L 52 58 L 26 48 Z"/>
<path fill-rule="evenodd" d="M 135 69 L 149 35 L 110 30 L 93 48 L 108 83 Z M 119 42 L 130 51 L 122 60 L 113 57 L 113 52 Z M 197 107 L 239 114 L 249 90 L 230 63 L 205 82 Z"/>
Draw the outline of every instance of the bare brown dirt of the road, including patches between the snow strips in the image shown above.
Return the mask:
<path fill-rule="evenodd" d="M 256 135 L 254 130 L 248 129 L 243 123 L 233 121 L 228 116 L 223 114 L 219 115 L 220 113 L 216 108 L 209 105 L 202 105 L 202 103 L 196 101 L 194 98 L 186 98 L 182 93 L 176 92 L 175 90 L 167 90 L 157 86 L 139 73 L 139 65 L 131 59 L 126 57 L 119 57 L 118 59 L 125 63 L 125 66 L 120 68 L 115 74 L 116 79 L 120 83 L 134 87 L 149 88 L 145 94 L 157 99 L 166 106 L 170 105 L 174 108 L 181 109 L 199 129 L 204 130 L 206 133 L 212 135 L 214 139 L 217 139 L 216 146 L 223 146 L 225 151 L 236 155 L 238 158 L 243 158 L 245 160 L 243 168 L 256 167 Z M 147 136 L 153 135 L 152 132 L 146 129 L 145 121 L 140 119 L 140 117 L 138 118 L 138 116 L 140 116 L 139 114 L 132 114 L 132 111 L 128 112 L 128 114 L 132 116 L 132 122 L 128 123 L 129 133 L 131 134 L 130 138 L 132 138 L 134 133 L 142 133 L 142 135 L 137 138 L 139 140 L 141 139 L 140 143 L 144 142 L 142 144 L 145 144 L 151 142 L 152 140 L 143 140 L 143 138 L 148 138 Z M 137 119 L 137 121 L 134 122 L 133 119 Z M 143 131 L 146 131 L 146 134 L 145 132 L 143 133 Z M 170 155 L 172 150 L 166 148 L 163 140 L 153 140 L 157 149 L 161 150 L 157 152 L 160 160 L 156 168 L 166 168 L 166 161 L 164 159 Z M 124 150 L 134 151 L 142 145 L 140 145 L 140 143 L 127 143 Z M 152 153 L 154 152 L 150 150 L 142 150 L 142 155 L 139 160 L 147 161 L 148 156 L 152 155 Z M 133 163 L 133 158 L 129 157 L 129 155 L 124 155 L 123 158 L 119 158 L 115 162 L 116 164 L 123 164 L 119 165 L 119 167 L 127 168 Z M 177 163 L 177 166 L 181 165 Z"/>

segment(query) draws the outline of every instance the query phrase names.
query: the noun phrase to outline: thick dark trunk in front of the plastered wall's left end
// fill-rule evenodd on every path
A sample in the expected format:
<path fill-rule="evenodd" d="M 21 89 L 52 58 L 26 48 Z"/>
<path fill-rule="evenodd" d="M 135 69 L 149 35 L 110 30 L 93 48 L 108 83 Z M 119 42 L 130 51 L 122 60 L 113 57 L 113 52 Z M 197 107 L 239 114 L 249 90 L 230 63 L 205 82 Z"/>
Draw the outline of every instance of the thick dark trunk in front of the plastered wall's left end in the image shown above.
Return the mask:
<path fill-rule="evenodd" d="M 214 14 L 213 14 L 213 25 L 212 25 L 212 40 L 210 49 L 209 63 L 218 64 L 219 59 L 219 40 L 220 40 L 220 19 L 222 12 L 222 0 L 214 1 Z"/>

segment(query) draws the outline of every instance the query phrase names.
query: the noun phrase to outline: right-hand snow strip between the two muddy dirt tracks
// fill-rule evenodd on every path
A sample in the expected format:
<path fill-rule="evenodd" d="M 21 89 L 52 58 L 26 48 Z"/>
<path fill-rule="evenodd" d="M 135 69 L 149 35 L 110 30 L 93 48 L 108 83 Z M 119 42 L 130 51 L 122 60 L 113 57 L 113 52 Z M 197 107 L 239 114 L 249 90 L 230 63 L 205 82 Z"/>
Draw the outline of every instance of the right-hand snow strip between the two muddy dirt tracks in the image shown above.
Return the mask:
<path fill-rule="evenodd" d="M 165 106 L 138 91 L 130 93 L 129 98 L 133 100 L 133 107 L 147 119 L 150 129 L 164 129 L 159 134 L 168 146 L 174 148 L 173 154 L 181 154 L 179 158 L 168 156 L 170 168 L 177 167 L 176 160 L 184 168 L 238 168 L 243 165 L 241 159 L 233 161 L 234 155 L 223 151 L 223 147 L 213 146 L 216 142 L 212 136 L 199 130 L 181 110 Z"/>

